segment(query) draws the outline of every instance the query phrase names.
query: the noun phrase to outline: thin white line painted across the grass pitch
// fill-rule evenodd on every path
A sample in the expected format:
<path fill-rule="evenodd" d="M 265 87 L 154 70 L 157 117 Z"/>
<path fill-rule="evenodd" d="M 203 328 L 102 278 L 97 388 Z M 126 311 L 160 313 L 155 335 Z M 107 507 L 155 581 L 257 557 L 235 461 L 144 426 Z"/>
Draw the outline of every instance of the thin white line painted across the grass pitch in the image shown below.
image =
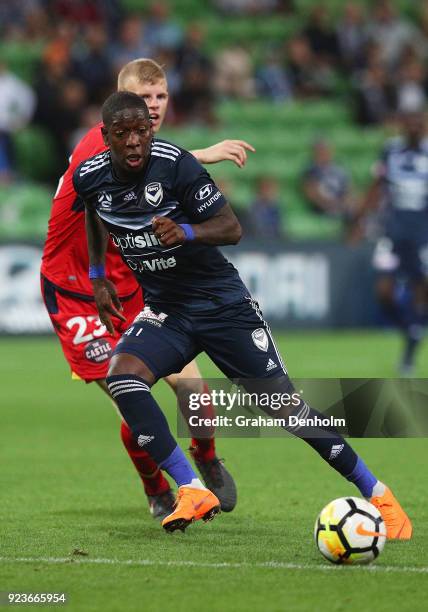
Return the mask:
<path fill-rule="evenodd" d="M 265 561 L 262 563 L 209 563 L 198 561 L 156 561 L 154 559 L 91 559 L 89 557 L 0 557 L 0 563 L 52 563 L 52 564 L 93 564 L 93 565 L 130 565 L 130 566 L 164 566 L 164 567 L 207 567 L 212 569 L 257 568 L 289 569 L 315 571 L 368 571 L 384 573 L 428 574 L 428 567 L 400 567 L 398 565 L 316 565 L 314 563 L 285 563 L 282 561 Z"/>

